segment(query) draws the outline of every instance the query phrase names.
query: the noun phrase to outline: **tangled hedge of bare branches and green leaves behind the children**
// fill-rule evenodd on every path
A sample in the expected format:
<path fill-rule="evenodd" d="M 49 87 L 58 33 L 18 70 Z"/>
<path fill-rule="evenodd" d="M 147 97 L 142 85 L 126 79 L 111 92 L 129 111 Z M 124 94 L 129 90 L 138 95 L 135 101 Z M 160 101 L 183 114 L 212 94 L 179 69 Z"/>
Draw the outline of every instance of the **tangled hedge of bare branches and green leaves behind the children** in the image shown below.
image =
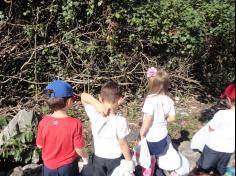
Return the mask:
<path fill-rule="evenodd" d="M 217 94 L 234 80 L 234 7 L 231 0 L 0 0 L 0 106 L 37 102 L 54 79 L 95 93 L 114 79 L 143 95 L 150 66 L 170 72 L 175 93 Z"/>

